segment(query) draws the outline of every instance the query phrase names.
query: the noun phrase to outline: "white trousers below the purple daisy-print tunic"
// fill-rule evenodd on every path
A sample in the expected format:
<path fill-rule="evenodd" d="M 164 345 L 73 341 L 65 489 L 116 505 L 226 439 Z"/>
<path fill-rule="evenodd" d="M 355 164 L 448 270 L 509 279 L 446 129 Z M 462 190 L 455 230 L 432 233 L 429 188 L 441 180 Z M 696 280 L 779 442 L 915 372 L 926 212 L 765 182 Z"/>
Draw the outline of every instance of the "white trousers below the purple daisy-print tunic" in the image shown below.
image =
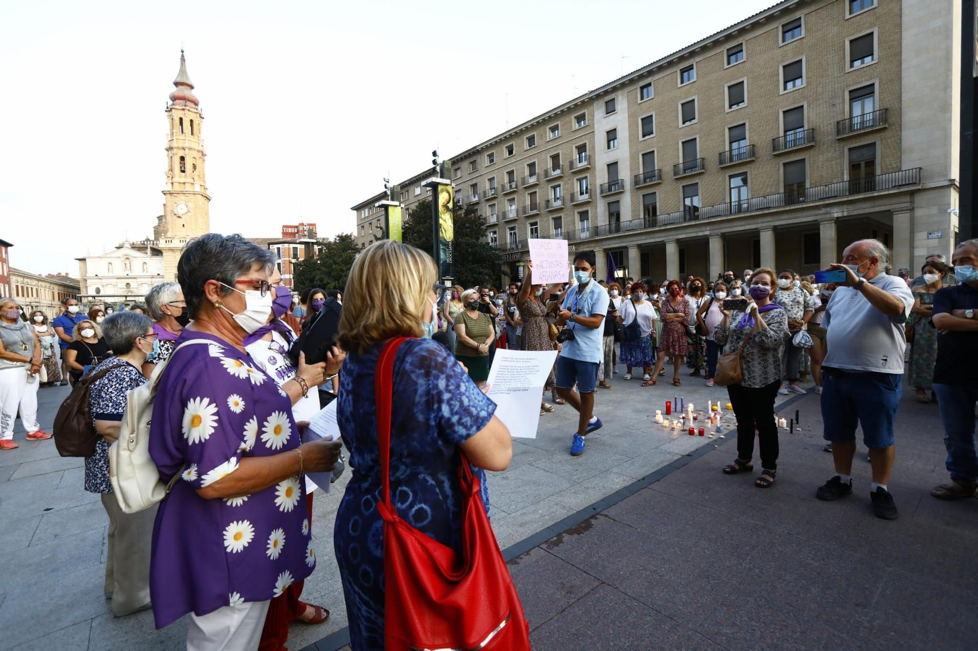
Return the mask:
<path fill-rule="evenodd" d="M 224 606 L 203 617 L 191 613 L 187 651 L 249 651 L 258 648 L 268 601 Z"/>

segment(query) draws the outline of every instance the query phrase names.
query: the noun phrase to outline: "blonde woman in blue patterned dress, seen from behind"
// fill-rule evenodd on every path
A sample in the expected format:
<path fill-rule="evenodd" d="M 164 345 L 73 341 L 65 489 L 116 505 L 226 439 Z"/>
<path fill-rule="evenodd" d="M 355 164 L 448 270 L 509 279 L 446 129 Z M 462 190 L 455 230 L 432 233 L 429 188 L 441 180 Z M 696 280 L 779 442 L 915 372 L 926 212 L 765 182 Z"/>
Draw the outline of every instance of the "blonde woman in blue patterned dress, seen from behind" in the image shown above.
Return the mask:
<path fill-rule="evenodd" d="M 378 544 L 382 521 L 376 507 L 381 501 L 377 362 L 391 339 L 422 337 L 430 330 L 436 318 L 434 282 L 430 256 L 383 239 L 357 256 L 343 292 L 338 340 L 347 357 L 339 375 L 336 418 L 356 472 L 336 513 L 333 548 L 355 649 L 384 647 L 384 562 L 383 545 Z M 390 290 L 378 292 L 378 286 Z M 465 296 L 477 304 L 474 294 Z M 460 316 L 457 326 L 463 327 L 462 319 L 467 318 Z M 412 339 L 401 346 L 393 384 L 390 495 L 398 515 L 411 526 L 459 550 L 463 513 L 457 451 L 461 449 L 474 466 L 488 508 L 485 470 L 510 465 L 510 432 L 493 414 L 496 405 L 444 346 L 430 339 Z M 422 616 L 424 605 L 419 608 Z"/>

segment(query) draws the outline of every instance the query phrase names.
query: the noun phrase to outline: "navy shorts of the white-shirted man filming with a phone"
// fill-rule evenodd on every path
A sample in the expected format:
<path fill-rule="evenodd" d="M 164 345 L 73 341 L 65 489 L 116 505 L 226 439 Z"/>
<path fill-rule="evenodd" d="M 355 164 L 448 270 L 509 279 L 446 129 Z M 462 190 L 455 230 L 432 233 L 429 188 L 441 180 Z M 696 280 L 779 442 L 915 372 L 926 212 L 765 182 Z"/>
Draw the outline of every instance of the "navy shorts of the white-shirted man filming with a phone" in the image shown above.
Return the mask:
<path fill-rule="evenodd" d="M 904 376 L 899 373 L 849 372 L 822 367 L 822 423 L 826 441 L 855 441 L 856 426 L 863 427 L 863 442 L 870 450 L 895 442 Z"/>

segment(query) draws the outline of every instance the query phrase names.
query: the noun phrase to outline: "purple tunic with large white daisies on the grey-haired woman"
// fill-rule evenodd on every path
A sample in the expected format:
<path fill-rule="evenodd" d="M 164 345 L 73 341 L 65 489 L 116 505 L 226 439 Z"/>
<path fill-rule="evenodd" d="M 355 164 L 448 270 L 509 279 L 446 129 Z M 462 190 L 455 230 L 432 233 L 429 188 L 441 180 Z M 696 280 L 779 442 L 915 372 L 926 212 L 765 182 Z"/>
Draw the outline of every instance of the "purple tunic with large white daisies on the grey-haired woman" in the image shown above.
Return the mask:
<path fill-rule="evenodd" d="M 212 334 L 174 350 L 156 387 L 150 456 L 164 483 L 182 478 L 159 504 L 150 592 L 156 628 L 245 601 L 266 601 L 316 565 L 302 482 L 289 477 L 251 495 L 203 499 L 197 491 L 235 472 L 243 456 L 295 450 L 288 394 L 254 360 Z"/>

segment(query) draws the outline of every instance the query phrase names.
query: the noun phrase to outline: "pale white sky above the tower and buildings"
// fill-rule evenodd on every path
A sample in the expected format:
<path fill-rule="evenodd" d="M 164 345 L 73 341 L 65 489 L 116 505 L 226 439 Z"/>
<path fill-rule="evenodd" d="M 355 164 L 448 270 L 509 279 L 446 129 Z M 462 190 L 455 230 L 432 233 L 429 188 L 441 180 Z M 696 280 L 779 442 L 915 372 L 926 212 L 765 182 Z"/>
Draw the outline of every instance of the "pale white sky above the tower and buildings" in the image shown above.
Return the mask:
<path fill-rule="evenodd" d="M 772 4 L 4 2 L 0 239 L 15 267 L 74 276 L 74 258 L 152 236 L 181 44 L 211 229 L 279 237 L 305 220 L 333 236 L 388 172 L 403 180 L 432 149 L 454 155 Z"/>

